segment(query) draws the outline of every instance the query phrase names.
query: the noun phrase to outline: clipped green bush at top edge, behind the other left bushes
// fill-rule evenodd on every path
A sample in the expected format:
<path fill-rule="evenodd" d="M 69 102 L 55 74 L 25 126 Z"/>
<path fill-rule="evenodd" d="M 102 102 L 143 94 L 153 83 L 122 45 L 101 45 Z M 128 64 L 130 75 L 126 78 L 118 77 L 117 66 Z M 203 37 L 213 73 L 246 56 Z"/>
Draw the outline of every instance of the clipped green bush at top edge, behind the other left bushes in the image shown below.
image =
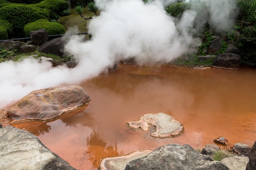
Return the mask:
<path fill-rule="evenodd" d="M 68 2 L 65 0 L 43 0 L 33 5 L 42 9 L 48 9 L 52 19 L 58 19 L 56 16 L 61 15 L 61 12 L 68 9 Z"/>

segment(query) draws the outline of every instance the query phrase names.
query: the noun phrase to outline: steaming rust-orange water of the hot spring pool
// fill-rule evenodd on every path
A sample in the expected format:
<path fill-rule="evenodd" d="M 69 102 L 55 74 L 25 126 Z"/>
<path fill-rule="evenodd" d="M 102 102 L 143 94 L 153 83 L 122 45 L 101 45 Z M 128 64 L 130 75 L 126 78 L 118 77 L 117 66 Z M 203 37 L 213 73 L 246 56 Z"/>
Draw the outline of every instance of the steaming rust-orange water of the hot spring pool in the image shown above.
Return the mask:
<path fill-rule="evenodd" d="M 49 123 L 16 124 L 78 170 L 97 169 L 104 157 L 154 150 L 170 143 L 202 148 L 223 136 L 231 146 L 256 141 L 256 70 L 195 70 L 175 66 L 119 64 L 78 84 L 88 106 Z M 128 121 L 163 112 L 184 125 L 184 134 L 153 139 Z M 198 144 L 199 142 L 199 144 Z"/>

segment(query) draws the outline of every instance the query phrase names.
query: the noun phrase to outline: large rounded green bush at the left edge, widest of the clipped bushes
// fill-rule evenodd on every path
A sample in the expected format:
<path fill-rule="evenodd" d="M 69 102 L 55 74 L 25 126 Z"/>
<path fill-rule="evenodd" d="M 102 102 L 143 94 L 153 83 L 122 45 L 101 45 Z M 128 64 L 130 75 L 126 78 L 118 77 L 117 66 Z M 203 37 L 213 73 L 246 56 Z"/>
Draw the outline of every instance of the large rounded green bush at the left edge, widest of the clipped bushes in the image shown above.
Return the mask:
<path fill-rule="evenodd" d="M 49 19 L 49 11 L 31 5 L 11 4 L 0 8 L 0 19 L 7 20 L 13 26 L 14 37 L 24 37 L 25 24 L 38 19 Z"/>

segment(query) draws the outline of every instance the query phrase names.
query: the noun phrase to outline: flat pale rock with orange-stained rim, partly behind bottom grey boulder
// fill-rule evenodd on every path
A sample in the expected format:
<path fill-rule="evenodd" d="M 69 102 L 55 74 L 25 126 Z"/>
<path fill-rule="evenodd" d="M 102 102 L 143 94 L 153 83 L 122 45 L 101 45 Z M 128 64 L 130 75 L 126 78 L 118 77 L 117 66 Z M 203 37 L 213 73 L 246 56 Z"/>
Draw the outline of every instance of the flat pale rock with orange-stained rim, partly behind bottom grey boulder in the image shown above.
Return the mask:
<path fill-rule="evenodd" d="M 121 157 L 104 158 L 99 165 L 100 170 L 124 170 L 126 164 L 134 159 L 145 157 L 152 150 L 138 150 Z"/>

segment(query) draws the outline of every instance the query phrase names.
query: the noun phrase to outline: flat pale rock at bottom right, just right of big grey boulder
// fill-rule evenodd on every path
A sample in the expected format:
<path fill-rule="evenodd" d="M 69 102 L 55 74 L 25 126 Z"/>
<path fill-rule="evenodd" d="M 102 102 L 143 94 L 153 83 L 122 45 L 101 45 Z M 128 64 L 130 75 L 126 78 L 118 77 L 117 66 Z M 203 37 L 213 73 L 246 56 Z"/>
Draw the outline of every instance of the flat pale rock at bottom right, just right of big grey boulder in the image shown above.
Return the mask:
<path fill-rule="evenodd" d="M 233 155 L 232 157 L 225 157 L 220 162 L 227 166 L 229 170 L 245 170 L 248 161 L 249 158 L 244 155 Z"/>

